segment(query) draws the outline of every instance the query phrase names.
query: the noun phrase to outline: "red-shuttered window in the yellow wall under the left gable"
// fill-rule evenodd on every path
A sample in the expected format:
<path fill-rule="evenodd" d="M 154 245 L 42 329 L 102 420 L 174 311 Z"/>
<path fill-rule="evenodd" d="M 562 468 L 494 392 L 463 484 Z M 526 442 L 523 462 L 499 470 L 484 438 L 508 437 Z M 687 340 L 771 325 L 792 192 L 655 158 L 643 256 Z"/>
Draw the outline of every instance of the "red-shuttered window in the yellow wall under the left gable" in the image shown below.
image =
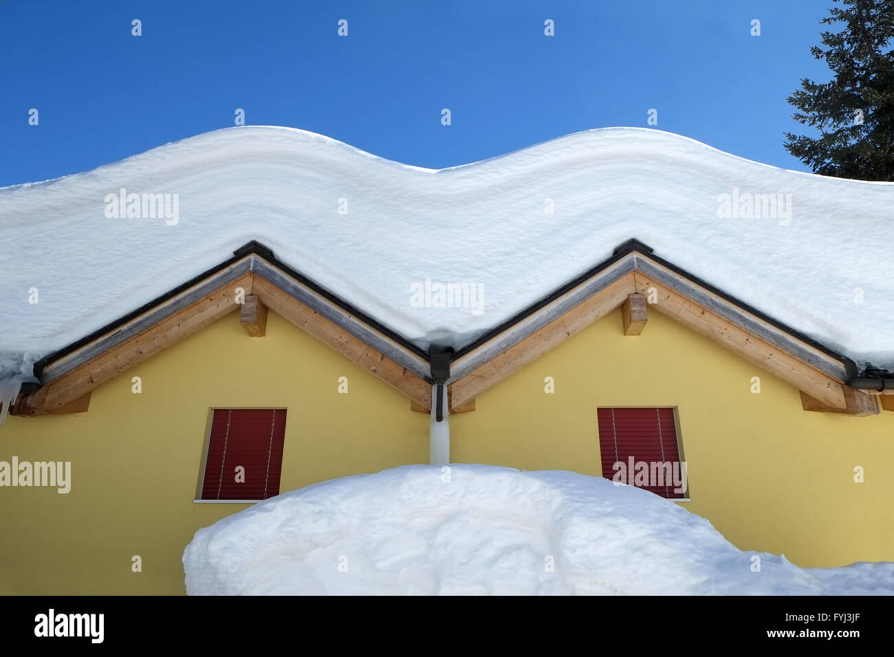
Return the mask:
<path fill-rule="evenodd" d="M 266 500 L 279 494 L 285 409 L 215 409 L 202 500 Z"/>

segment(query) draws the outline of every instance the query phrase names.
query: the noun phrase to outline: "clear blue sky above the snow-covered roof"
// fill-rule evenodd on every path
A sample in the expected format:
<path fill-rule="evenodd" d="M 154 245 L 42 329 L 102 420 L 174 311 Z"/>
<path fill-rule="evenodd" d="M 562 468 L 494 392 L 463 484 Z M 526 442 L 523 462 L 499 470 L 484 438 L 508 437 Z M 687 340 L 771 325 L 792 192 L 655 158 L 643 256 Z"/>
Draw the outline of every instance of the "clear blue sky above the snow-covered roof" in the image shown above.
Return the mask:
<path fill-rule="evenodd" d="M 804 171 L 785 99 L 829 77 L 809 47 L 831 4 L 0 0 L 0 186 L 229 127 L 236 108 L 434 168 L 647 127 L 654 108 L 660 130 Z"/>

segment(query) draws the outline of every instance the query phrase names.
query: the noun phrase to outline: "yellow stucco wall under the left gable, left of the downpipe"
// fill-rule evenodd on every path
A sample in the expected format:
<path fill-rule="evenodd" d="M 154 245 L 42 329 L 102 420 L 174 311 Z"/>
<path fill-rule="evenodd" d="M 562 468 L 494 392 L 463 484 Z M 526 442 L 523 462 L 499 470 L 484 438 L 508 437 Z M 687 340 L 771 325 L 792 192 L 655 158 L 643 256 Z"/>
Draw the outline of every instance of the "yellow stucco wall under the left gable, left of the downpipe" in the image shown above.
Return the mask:
<path fill-rule="evenodd" d="M 213 407 L 288 409 L 282 492 L 428 460 L 428 417 L 400 392 L 280 316 L 249 338 L 232 313 L 99 386 L 87 413 L 7 418 L 0 460 L 71 461 L 72 490 L 0 488 L 0 594 L 185 592 L 192 535 L 249 506 L 193 502 Z"/>

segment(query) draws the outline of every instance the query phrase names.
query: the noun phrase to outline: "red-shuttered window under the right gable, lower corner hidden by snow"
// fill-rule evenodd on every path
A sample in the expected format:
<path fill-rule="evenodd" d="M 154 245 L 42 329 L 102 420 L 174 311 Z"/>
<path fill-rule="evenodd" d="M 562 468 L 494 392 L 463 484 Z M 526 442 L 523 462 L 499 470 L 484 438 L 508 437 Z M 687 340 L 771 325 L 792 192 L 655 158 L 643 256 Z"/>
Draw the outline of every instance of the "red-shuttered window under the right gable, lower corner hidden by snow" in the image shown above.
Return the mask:
<path fill-rule="evenodd" d="M 598 409 L 603 476 L 667 497 L 687 496 L 673 409 Z"/>

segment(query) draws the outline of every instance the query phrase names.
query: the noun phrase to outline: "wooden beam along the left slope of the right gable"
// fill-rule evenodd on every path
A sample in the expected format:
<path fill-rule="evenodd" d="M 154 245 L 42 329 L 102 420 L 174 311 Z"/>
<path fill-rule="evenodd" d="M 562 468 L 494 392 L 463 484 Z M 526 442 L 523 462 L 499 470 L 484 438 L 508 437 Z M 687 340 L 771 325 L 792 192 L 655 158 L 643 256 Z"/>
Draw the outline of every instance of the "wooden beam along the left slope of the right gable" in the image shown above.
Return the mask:
<path fill-rule="evenodd" d="M 621 276 L 617 281 L 606 285 L 583 303 L 571 308 L 565 315 L 557 317 L 536 333 L 531 333 L 524 340 L 451 383 L 449 390 L 453 403 L 461 406 L 468 400 L 475 399 L 513 372 L 540 358 L 597 319 L 611 313 L 634 292 L 636 287 L 633 273 Z"/>

